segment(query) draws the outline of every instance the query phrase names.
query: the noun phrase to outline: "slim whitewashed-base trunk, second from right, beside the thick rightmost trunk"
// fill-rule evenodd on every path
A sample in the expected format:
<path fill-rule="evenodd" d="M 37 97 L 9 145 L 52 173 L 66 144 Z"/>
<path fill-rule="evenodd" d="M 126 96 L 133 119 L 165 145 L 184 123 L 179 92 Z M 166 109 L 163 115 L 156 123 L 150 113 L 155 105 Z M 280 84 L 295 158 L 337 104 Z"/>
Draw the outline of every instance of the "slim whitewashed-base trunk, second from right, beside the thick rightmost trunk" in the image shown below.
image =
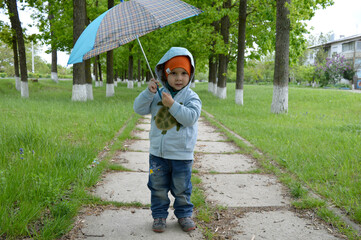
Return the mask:
<path fill-rule="evenodd" d="M 238 55 L 236 76 L 236 104 L 243 105 L 244 51 L 246 48 L 247 0 L 240 0 L 238 15 Z"/>

